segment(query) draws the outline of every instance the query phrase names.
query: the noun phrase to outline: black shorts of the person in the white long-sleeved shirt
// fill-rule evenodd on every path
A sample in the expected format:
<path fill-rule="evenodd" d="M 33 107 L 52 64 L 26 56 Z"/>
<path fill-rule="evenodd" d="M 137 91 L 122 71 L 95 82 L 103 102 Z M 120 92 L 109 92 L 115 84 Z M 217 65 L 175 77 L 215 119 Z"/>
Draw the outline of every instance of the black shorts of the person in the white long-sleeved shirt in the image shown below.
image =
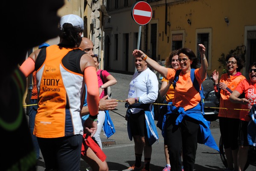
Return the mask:
<path fill-rule="evenodd" d="M 140 135 L 140 137 L 145 137 L 145 112 L 140 111 L 137 114 L 130 115 L 130 127 L 131 134 Z"/>

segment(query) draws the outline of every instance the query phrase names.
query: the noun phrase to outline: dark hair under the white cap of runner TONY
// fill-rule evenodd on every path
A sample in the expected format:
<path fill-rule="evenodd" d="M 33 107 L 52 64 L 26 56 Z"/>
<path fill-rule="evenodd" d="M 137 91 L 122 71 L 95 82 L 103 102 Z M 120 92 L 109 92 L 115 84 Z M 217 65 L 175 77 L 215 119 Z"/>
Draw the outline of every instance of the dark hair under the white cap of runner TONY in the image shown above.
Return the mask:
<path fill-rule="evenodd" d="M 59 37 L 63 40 L 66 40 L 69 43 L 69 46 L 79 46 L 82 37 L 79 35 L 83 29 L 78 26 L 73 26 L 70 23 L 64 23 L 62 29 L 60 30 Z"/>

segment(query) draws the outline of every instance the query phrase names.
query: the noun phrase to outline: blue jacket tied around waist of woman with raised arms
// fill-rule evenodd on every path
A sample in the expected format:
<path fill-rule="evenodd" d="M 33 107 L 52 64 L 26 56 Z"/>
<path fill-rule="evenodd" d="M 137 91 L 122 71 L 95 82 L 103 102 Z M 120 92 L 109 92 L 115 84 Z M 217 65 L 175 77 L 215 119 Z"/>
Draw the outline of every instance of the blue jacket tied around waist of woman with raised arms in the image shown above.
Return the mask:
<path fill-rule="evenodd" d="M 212 137 L 211 131 L 210 131 L 210 122 L 204 119 L 204 116 L 201 114 L 201 106 L 198 103 L 197 106 L 194 108 L 191 108 L 187 111 L 184 111 L 184 108 L 182 107 L 176 107 L 175 105 L 172 105 L 172 102 L 168 103 L 167 106 L 167 113 L 163 116 L 163 124 L 162 124 L 162 134 L 163 137 L 166 137 L 166 116 L 168 114 L 179 114 L 179 116 L 176 119 L 175 125 L 179 125 L 181 121 L 183 120 L 183 117 L 191 117 L 195 121 L 199 123 L 200 126 L 200 132 L 201 134 L 198 134 L 198 143 L 207 145 L 210 148 L 213 148 L 217 151 L 219 151 L 218 145 L 216 144 L 214 138 Z"/>

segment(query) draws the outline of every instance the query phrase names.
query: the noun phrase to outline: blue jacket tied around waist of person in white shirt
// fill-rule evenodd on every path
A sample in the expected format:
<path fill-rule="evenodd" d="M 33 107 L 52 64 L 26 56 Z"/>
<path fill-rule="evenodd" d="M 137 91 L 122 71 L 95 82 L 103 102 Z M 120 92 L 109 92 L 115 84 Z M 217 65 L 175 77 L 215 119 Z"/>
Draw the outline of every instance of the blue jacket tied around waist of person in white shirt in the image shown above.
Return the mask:
<path fill-rule="evenodd" d="M 151 106 L 151 109 L 150 109 Z M 140 104 L 140 103 L 134 103 L 132 105 L 128 105 L 125 103 L 125 108 L 128 108 L 126 111 L 127 116 L 127 131 L 129 139 L 132 141 L 132 134 L 131 134 L 131 127 L 130 127 L 130 118 L 129 116 L 131 113 L 131 108 L 142 108 L 145 111 L 145 124 L 147 129 L 147 135 L 148 135 L 148 142 L 149 145 L 153 145 L 154 142 L 158 142 L 158 134 L 157 134 L 157 127 L 154 123 L 154 107 L 150 104 Z"/>

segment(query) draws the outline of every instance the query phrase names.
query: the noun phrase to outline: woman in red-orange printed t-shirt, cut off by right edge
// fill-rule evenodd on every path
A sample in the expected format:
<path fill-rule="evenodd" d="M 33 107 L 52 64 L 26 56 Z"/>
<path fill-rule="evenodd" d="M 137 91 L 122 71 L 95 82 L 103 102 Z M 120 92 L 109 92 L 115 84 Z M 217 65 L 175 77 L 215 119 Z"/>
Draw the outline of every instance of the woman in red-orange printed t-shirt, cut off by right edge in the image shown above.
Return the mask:
<path fill-rule="evenodd" d="M 249 113 L 249 110 L 256 105 L 256 63 L 252 63 L 248 69 L 250 80 L 243 80 L 230 95 L 230 101 L 240 103 L 240 124 L 239 124 L 239 151 L 238 151 L 238 168 L 243 171 L 247 167 L 247 153 L 249 145 L 255 146 L 256 132 L 253 131 L 255 126 L 253 123 L 254 113 Z M 244 98 L 241 97 L 244 94 Z M 248 117 L 248 116 L 253 116 Z M 252 121 L 249 125 L 249 121 Z M 248 130 L 248 131 L 247 131 Z M 248 137 L 247 137 L 248 132 Z M 250 161 L 250 160 L 249 160 Z"/>

